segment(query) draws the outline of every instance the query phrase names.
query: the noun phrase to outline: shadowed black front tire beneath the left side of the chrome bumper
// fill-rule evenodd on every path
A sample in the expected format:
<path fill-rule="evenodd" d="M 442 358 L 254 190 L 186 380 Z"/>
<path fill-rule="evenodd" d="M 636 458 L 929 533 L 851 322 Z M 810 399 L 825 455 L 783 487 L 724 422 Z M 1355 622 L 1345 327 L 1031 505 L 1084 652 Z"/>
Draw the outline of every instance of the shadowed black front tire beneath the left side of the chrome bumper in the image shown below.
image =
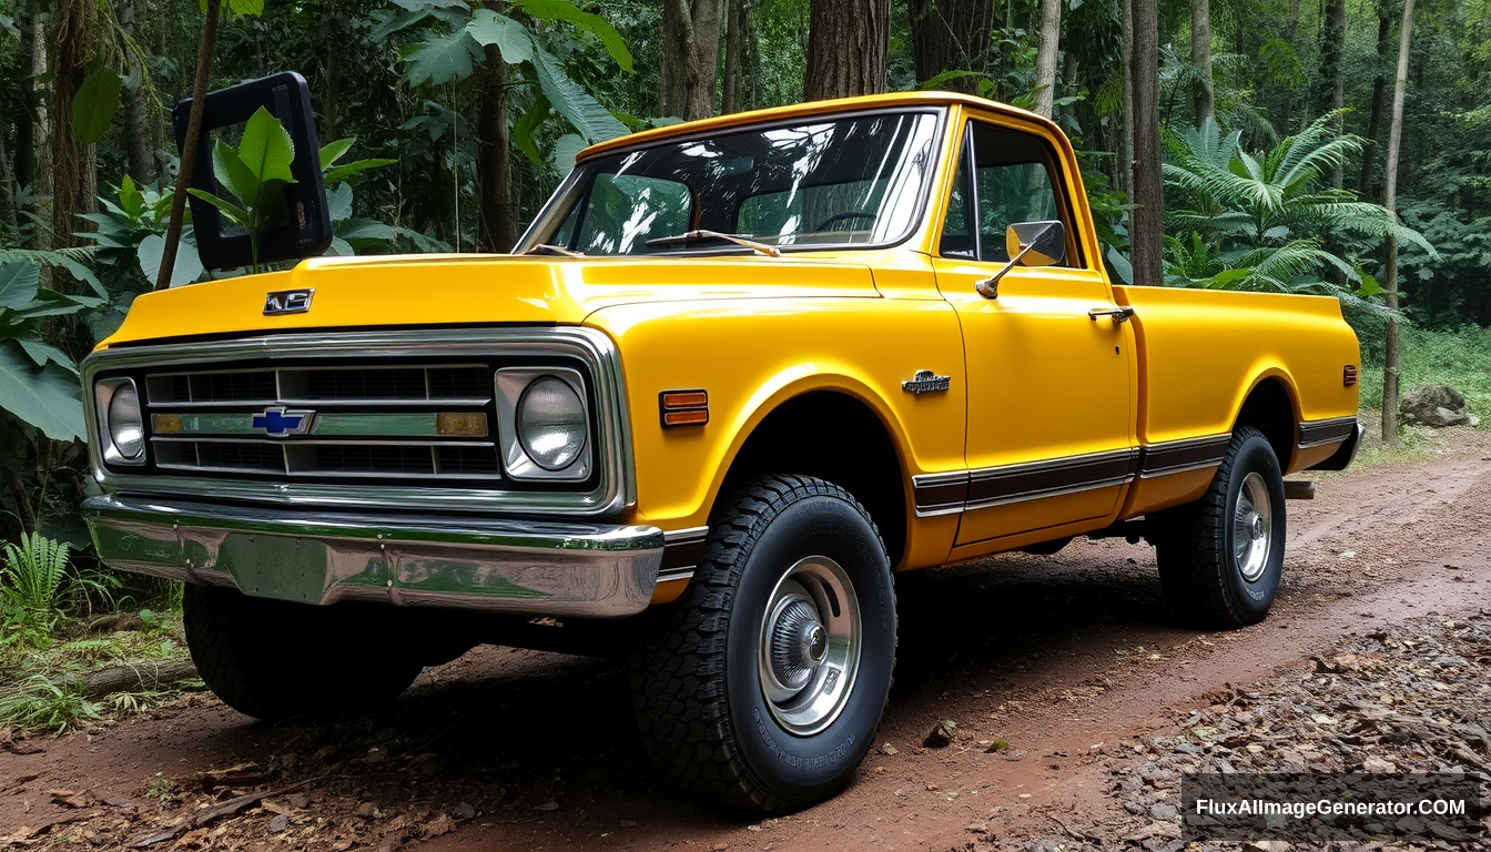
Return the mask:
<path fill-rule="evenodd" d="M 377 612 L 253 598 L 188 585 L 186 646 L 222 703 L 265 722 L 374 710 L 419 676 L 419 661 L 379 630 Z"/>

